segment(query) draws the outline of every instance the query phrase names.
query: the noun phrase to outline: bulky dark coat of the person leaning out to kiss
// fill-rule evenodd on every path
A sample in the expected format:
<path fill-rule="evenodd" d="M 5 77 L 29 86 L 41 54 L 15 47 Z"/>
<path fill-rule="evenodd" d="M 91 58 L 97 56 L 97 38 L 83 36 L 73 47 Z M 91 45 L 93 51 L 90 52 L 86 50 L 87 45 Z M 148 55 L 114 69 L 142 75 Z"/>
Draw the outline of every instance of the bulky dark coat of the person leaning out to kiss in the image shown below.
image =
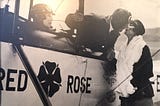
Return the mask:
<path fill-rule="evenodd" d="M 104 19 L 96 15 L 85 15 L 83 21 L 76 22 L 72 19 L 72 15 L 68 15 L 65 22 L 71 29 L 78 29 L 76 39 L 78 49 L 83 46 L 93 52 L 104 53 L 114 46 L 119 33 L 116 31 L 110 32 L 109 18 Z"/>

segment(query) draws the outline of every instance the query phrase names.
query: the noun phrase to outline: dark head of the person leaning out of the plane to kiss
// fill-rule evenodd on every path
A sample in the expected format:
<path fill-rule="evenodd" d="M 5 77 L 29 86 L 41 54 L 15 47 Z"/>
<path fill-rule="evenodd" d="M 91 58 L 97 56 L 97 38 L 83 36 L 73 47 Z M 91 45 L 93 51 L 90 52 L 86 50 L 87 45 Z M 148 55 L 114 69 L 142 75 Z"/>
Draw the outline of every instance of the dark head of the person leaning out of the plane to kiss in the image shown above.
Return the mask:
<path fill-rule="evenodd" d="M 125 9 L 116 9 L 112 14 L 111 25 L 115 30 L 123 28 L 129 23 L 131 13 Z"/>

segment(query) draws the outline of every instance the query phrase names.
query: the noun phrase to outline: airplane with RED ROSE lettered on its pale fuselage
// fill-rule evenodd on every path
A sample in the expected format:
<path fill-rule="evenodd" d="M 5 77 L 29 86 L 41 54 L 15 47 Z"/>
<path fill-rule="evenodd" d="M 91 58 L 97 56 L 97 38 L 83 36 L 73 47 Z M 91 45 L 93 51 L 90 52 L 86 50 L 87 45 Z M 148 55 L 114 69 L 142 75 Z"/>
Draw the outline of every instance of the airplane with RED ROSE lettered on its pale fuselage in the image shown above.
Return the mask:
<path fill-rule="evenodd" d="M 0 9 L 0 106 L 118 106 L 117 94 L 113 98 L 106 95 L 116 79 L 104 67 L 108 62 L 103 51 L 77 49 L 75 27 L 36 31 L 27 39 L 24 25 L 32 21 L 20 16 L 22 3 L 15 0 L 13 12 L 10 5 Z M 28 2 L 28 11 L 33 4 L 34 0 Z M 84 14 L 84 0 L 79 0 L 78 10 Z M 160 55 L 159 50 L 152 55 Z M 154 106 L 160 104 L 159 64 L 159 60 L 153 61 Z"/>

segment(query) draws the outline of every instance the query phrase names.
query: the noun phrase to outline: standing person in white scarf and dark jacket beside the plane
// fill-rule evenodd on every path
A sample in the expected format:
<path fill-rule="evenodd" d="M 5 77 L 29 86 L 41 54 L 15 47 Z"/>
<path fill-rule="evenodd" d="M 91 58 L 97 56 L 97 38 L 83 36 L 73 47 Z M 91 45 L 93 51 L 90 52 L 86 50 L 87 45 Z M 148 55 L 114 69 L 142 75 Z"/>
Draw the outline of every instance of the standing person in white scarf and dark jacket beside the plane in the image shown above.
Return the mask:
<path fill-rule="evenodd" d="M 126 42 L 115 44 L 118 82 L 131 75 L 116 89 L 121 93 L 121 106 L 153 106 L 154 92 L 149 80 L 153 77 L 153 63 L 149 47 L 143 40 L 144 33 L 142 22 L 133 20 L 125 30 Z"/>

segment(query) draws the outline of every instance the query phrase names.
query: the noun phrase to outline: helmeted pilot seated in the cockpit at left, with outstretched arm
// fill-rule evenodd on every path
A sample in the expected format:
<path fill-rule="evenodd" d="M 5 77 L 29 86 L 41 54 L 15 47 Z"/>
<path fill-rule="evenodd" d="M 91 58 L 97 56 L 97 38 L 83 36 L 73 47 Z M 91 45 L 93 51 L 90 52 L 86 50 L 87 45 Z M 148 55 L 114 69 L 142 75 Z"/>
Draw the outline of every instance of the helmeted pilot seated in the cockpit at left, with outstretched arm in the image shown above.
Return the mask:
<path fill-rule="evenodd" d="M 45 48 L 72 50 L 67 42 L 65 33 L 56 32 L 52 27 L 53 11 L 46 4 L 36 4 L 29 12 L 30 21 L 24 24 L 21 31 L 23 42 L 33 46 Z"/>

